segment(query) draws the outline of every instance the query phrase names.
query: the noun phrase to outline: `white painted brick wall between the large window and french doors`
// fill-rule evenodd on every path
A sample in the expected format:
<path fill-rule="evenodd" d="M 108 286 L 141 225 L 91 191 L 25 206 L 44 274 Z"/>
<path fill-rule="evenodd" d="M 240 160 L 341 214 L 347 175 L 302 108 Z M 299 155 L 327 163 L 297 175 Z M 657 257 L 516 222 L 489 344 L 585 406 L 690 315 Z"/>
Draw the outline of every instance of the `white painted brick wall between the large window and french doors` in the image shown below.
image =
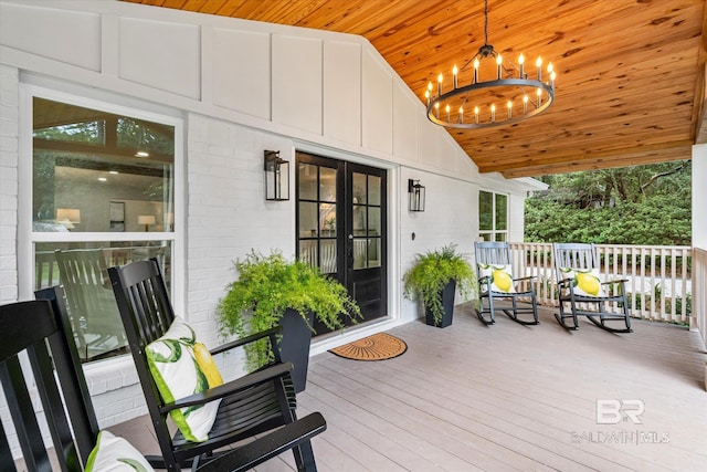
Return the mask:
<path fill-rule="evenodd" d="M 188 117 L 187 133 L 187 319 L 213 347 L 223 342 L 215 308 L 235 279 L 233 262 L 251 249 L 282 249 L 294 256 L 294 196 L 291 201 L 266 202 L 263 177 L 263 151 L 279 150 L 293 162 L 293 144 L 196 114 Z M 242 353 L 217 363 L 224 378 L 243 373 Z"/>

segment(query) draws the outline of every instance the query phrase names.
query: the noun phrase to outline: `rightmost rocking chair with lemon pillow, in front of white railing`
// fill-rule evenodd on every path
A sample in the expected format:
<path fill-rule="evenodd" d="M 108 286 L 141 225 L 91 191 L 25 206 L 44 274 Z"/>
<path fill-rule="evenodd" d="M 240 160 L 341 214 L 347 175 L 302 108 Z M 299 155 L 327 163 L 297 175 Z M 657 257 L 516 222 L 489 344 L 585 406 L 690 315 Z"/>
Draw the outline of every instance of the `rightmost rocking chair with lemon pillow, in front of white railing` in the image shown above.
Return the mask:
<path fill-rule="evenodd" d="M 555 273 L 557 275 L 560 313 L 555 318 L 566 329 L 579 327 L 578 317 L 587 318 L 602 329 L 612 333 L 633 333 L 626 300 L 625 280 L 599 281 L 599 263 L 594 244 L 552 244 Z M 569 313 L 566 305 L 569 304 Z M 610 311 L 615 304 L 619 312 Z M 567 319 L 572 324 L 568 325 Z M 622 322 L 624 327 L 614 328 L 606 322 Z"/>

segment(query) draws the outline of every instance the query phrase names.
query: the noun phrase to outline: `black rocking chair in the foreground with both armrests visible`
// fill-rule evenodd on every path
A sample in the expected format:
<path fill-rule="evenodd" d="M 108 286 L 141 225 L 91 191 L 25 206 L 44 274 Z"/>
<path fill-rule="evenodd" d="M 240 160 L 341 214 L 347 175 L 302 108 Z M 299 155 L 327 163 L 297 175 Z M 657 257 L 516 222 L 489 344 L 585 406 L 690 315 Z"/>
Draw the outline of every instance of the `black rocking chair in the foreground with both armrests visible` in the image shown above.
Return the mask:
<path fill-rule="evenodd" d="M 296 398 L 289 374 L 292 364 L 281 363 L 277 349 L 274 349 L 274 365 L 201 394 L 166 402 L 145 356 L 146 346 L 160 338 L 175 321 L 157 260 L 109 268 L 108 274 L 162 451 L 161 458 L 148 458 L 150 463 L 170 471 L 179 471 L 187 462 L 193 464 L 193 470 L 201 470 L 198 469 L 200 463 L 209 470 L 246 470 L 292 449 L 297 470 L 316 471 L 310 438 L 323 432 L 326 422 L 318 412 L 299 420 L 296 418 Z M 211 354 L 264 337 L 270 337 L 270 342 L 276 346 L 277 333 L 278 328 L 273 328 L 212 349 Z M 215 399 L 221 399 L 221 403 L 207 441 L 188 441 L 180 431 L 171 437 L 167 429 L 169 411 L 202 406 Z M 272 431 L 281 426 L 284 427 Z M 246 445 L 225 451 L 222 449 L 262 433 L 265 434 Z M 214 452 L 217 449 L 223 452 Z"/>

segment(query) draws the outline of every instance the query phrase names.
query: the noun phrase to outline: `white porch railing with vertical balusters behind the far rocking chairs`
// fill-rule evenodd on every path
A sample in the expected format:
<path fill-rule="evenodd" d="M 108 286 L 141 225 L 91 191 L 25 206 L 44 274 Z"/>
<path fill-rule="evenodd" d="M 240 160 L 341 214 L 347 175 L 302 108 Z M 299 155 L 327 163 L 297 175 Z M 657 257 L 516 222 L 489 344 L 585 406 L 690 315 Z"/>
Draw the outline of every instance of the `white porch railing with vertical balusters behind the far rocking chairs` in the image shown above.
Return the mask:
<path fill-rule="evenodd" d="M 557 306 L 552 244 L 510 243 L 516 276 L 535 275 L 538 303 Z M 631 316 L 689 323 L 692 249 L 683 245 L 597 244 L 604 280 L 625 279 Z"/>

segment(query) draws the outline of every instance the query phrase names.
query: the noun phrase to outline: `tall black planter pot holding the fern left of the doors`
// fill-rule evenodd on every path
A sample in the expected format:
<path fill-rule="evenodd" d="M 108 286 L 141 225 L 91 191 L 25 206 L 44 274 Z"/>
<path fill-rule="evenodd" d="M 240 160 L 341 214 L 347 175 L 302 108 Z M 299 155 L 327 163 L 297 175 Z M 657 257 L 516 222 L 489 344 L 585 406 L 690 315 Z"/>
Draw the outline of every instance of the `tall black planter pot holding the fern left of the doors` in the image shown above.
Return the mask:
<path fill-rule="evenodd" d="M 309 325 L 314 315 L 307 315 Z M 312 331 L 302 315 L 294 310 L 287 308 L 279 321 L 283 327 L 283 338 L 279 342 L 279 354 L 283 361 L 288 360 L 294 365 L 293 382 L 295 391 L 304 391 L 307 385 L 307 367 L 309 366 L 309 344 L 312 342 Z"/>

